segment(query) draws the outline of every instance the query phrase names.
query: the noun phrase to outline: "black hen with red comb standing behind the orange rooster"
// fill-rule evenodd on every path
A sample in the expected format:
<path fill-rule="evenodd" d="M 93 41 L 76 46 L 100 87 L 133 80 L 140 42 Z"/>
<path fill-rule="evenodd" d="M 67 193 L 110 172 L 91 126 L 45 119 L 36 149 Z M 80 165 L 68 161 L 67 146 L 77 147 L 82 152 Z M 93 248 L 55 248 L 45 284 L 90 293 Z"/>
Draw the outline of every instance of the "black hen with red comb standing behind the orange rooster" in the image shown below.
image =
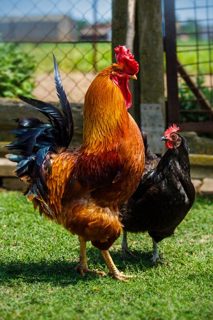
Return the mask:
<path fill-rule="evenodd" d="M 144 174 L 135 193 L 122 207 L 123 252 L 132 254 L 127 243 L 128 231 L 148 231 L 153 241 L 153 262 L 160 261 L 157 243 L 173 235 L 195 201 L 195 188 L 190 177 L 189 148 L 178 130 L 173 125 L 160 139 L 165 141 L 165 147 L 168 148 L 161 159 L 147 150 L 145 135 Z"/>

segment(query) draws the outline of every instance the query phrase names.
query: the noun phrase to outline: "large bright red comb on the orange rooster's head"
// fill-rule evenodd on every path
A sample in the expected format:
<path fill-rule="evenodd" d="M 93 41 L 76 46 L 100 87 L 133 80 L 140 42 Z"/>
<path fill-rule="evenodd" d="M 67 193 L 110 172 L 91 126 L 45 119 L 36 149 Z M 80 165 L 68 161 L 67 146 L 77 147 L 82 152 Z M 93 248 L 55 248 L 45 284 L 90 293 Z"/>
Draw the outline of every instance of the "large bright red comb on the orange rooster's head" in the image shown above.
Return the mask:
<path fill-rule="evenodd" d="M 129 49 L 127 49 L 125 45 L 119 45 L 114 51 L 117 64 L 125 65 L 126 72 L 130 75 L 138 73 L 139 65 L 137 61 L 134 60 L 134 55 L 129 52 Z"/>

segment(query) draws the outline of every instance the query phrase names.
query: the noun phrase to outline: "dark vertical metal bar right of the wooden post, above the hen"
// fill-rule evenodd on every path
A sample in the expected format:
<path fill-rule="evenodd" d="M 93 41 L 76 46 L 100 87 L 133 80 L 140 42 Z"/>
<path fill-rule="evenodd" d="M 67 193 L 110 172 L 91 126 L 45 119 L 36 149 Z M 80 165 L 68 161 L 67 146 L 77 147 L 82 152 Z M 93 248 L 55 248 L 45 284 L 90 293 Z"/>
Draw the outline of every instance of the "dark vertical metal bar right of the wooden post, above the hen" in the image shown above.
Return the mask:
<path fill-rule="evenodd" d="M 165 60 L 167 63 L 167 93 L 168 108 L 167 121 L 180 122 L 180 107 L 178 100 L 177 82 L 177 54 L 176 54 L 176 28 L 175 28 L 175 3 L 174 0 L 164 0 L 165 17 Z"/>

